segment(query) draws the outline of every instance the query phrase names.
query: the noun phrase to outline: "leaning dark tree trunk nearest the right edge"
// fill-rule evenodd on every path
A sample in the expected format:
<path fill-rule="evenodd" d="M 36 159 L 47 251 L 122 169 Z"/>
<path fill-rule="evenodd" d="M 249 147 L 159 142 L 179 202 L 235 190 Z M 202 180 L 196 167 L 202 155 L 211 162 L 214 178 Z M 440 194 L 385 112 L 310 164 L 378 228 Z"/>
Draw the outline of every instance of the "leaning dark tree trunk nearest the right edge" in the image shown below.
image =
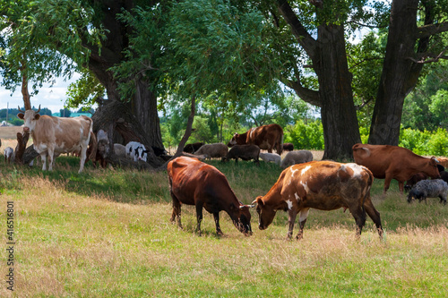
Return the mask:
<path fill-rule="evenodd" d="M 423 65 L 409 59 L 415 56 L 418 2 L 392 2 L 383 72 L 370 126 L 370 144 L 398 145 L 404 98 L 417 84 Z"/>

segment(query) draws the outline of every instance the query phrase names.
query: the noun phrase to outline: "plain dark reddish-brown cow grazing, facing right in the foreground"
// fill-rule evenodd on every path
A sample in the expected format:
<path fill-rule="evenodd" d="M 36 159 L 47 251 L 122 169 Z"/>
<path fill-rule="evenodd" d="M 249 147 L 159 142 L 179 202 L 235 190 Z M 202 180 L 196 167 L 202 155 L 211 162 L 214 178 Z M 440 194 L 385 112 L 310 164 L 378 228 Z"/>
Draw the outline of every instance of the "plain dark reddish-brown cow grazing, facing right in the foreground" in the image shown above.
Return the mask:
<path fill-rule="evenodd" d="M 213 214 L 216 233 L 220 229 L 220 211 L 224 210 L 238 231 L 252 234 L 251 214 L 228 185 L 228 180 L 216 167 L 202 163 L 196 158 L 179 157 L 168 162 L 169 193 L 173 199 L 171 221 L 180 221 L 181 204 L 196 207 L 197 232 L 201 234 L 202 208 Z"/>

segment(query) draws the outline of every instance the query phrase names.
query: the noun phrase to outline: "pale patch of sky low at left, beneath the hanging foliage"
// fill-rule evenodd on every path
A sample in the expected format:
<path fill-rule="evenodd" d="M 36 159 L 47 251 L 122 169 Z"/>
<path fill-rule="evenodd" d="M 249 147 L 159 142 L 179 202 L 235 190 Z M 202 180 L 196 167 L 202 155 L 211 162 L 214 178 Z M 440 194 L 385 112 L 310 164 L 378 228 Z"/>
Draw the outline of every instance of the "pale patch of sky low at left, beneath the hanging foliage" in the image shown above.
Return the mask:
<path fill-rule="evenodd" d="M 80 74 L 74 73 L 70 81 L 65 81 L 63 78 L 56 78 L 56 82 L 53 86 L 44 84 L 44 86 L 39 89 L 39 93 L 31 97 L 31 106 L 37 107 L 41 105 L 41 107 L 49 108 L 52 113 L 59 113 L 59 110 L 64 108 L 65 94 L 68 86 L 79 78 Z M 23 106 L 21 86 L 18 86 L 13 94 L 11 94 L 10 90 L 0 86 L 0 109 L 6 108 L 8 103 L 9 108 Z"/>

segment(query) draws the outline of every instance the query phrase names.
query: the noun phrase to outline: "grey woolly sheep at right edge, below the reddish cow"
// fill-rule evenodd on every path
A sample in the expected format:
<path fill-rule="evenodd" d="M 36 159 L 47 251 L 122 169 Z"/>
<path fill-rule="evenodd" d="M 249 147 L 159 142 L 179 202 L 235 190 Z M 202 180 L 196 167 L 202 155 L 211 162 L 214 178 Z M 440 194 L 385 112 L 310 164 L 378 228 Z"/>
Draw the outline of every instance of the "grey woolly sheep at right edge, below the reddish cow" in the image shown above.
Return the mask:
<path fill-rule="evenodd" d="M 442 179 L 435 180 L 421 180 L 415 184 L 409 192 L 408 202 L 410 203 L 413 198 L 419 201 L 426 198 L 440 198 L 440 202 L 446 204 L 446 195 L 448 193 L 448 184 Z"/>

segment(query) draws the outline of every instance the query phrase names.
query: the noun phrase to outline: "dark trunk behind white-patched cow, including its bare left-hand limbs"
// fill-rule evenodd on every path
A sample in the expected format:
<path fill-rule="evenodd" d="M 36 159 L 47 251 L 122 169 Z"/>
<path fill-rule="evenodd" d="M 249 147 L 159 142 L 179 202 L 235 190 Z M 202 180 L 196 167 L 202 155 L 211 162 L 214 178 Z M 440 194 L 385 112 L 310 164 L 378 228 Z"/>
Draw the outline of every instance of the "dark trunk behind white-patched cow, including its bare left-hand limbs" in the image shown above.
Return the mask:
<path fill-rule="evenodd" d="M 323 2 L 312 3 L 321 13 Z M 277 0 L 277 7 L 289 23 L 297 43 L 313 62 L 319 81 L 319 91 L 306 89 L 300 82 L 286 81 L 306 102 L 321 107 L 325 152 L 323 158 L 352 157 L 351 147 L 360 142 L 358 118 L 353 102 L 351 73 L 347 63 L 343 25 L 323 24 L 317 28 L 317 40 L 297 18 L 287 0 Z"/>

